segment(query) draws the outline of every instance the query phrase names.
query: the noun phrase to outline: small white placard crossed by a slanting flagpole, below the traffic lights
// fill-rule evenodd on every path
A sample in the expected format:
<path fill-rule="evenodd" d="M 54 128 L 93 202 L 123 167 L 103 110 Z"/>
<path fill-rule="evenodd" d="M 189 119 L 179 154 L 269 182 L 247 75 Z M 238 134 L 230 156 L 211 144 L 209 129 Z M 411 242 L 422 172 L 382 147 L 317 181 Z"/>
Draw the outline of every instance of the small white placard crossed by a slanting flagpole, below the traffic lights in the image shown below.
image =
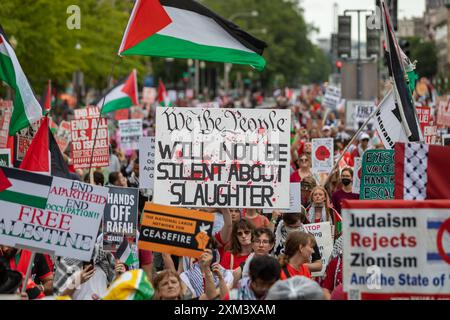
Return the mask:
<path fill-rule="evenodd" d="M 348 130 L 358 130 L 361 125 L 375 111 L 375 103 L 370 100 L 348 100 L 345 108 L 345 125 Z M 371 128 L 375 120 L 369 121 L 367 126 Z"/>

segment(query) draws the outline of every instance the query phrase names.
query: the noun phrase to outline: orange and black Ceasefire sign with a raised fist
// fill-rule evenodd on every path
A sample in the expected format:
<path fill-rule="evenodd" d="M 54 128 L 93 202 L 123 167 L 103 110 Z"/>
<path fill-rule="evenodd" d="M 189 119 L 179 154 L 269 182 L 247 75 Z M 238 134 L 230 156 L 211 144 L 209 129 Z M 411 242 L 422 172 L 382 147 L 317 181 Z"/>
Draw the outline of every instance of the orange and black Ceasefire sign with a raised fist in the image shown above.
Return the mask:
<path fill-rule="evenodd" d="M 145 203 L 139 249 L 199 258 L 212 238 L 212 213 Z"/>

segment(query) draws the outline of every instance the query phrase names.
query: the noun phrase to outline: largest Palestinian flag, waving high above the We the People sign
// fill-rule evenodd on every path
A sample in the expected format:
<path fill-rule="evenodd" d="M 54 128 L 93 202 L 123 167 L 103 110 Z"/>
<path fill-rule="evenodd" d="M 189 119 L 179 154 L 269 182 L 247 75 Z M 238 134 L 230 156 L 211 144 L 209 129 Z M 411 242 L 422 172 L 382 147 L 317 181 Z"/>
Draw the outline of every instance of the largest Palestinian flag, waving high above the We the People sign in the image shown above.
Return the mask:
<path fill-rule="evenodd" d="M 137 0 L 120 56 L 246 64 L 264 69 L 267 45 L 193 0 Z"/>

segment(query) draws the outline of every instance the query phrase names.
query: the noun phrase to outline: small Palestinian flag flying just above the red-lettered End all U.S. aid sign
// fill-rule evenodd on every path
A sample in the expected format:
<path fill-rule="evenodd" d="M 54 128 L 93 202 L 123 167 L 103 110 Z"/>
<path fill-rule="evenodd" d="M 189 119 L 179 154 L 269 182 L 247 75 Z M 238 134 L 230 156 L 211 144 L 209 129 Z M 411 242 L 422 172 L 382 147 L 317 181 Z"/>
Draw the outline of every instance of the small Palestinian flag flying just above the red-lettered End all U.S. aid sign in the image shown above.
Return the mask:
<path fill-rule="evenodd" d="M 119 109 L 126 109 L 137 104 L 139 104 L 137 76 L 136 70 L 133 70 L 125 81 L 119 82 L 100 99 L 97 107 L 103 114 Z"/>

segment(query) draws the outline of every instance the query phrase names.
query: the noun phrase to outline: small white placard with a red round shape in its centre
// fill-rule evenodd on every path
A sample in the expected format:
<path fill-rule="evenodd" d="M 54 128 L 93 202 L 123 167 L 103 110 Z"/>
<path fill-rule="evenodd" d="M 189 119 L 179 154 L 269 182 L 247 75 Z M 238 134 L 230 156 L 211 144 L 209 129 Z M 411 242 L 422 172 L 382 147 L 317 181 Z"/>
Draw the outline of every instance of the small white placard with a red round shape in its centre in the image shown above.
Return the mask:
<path fill-rule="evenodd" d="M 312 172 L 329 173 L 333 169 L 333 138 L 312 139 Z"/>

